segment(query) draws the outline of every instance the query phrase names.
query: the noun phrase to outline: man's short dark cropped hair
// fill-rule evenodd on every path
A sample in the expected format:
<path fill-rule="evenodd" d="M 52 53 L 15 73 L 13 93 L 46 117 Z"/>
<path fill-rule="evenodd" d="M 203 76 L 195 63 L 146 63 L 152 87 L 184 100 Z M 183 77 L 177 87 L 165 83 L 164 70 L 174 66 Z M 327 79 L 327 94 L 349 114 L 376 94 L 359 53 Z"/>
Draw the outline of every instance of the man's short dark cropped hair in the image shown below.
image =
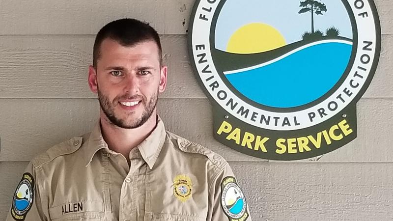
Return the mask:
<path fill-rule="evenodd" d="M 93 47 L 94 68 L 97 68 L 97 60 L 100 58 L 101 44 L 107 38 L 117 41 L 125 47 L 132 47 L 146 41 L 154 41 L 158 47 L 160 65 L 162 63 L 162 48 L 157 31 L 148 23 L 125 18 L 110 22 L 98 31 Z"/>

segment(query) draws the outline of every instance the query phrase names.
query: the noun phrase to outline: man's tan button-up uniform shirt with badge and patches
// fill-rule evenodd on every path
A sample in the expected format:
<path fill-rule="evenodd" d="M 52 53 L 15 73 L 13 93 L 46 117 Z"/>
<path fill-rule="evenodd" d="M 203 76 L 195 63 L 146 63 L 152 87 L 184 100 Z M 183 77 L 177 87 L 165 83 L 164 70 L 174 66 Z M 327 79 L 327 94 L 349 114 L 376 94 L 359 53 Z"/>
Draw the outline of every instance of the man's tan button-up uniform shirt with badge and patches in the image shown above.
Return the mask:
<path fill-rule="evenodd" d="M 125 157 L 97 122 L 34 158 L 7 221 L 251 221 L 227 162 L 157 127 Z"/>

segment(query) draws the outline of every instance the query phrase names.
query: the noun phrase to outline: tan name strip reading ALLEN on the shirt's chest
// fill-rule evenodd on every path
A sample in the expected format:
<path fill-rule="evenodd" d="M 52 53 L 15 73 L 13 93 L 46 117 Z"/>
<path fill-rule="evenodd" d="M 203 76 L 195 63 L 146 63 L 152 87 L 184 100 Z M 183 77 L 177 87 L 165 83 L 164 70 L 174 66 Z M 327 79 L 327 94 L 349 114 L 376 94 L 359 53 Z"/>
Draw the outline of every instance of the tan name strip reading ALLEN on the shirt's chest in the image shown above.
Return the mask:
<path fill-rule="evenodd" d="M 83 212 L 104 212 L 102 201 L 67 202 L 56 207 L 49 208 L 51 219 L 58 219 L 64 215 Z"/>

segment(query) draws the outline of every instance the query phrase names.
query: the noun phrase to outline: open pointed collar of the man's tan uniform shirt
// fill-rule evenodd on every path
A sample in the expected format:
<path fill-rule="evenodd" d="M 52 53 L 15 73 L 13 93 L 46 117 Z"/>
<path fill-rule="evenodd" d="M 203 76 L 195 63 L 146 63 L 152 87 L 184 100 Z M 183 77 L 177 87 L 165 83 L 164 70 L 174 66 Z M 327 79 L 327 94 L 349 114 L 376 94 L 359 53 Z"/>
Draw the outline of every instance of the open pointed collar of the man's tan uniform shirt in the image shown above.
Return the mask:
<path fill-rule="evenodd" d="M 165 139 L 166 132 L 164 123 L 157 115 L 157 125 L 154 130 L 146 139 L 144 139 L 138 146 L 135 147 L 139 149 L 140 155 L 150 169 L 152 169 L 156 163 L 158 155 L 160 154 L 164 145 Z M 85 148 L 85 165 L 88 166 L 95 153 L 103 148 L 108 149 L 108 144 L 102 137 L 101 122 L 98 120 L 87 141 L 87 148 Z"/>

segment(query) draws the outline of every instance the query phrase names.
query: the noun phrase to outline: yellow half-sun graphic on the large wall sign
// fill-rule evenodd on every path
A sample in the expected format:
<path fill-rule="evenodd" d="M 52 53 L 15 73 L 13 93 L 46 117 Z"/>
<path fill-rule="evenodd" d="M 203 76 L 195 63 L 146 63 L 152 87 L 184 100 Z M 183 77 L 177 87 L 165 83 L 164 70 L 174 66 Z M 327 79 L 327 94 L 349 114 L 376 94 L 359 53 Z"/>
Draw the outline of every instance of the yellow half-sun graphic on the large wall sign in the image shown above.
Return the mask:
<path fill-rule="evenodd" d="M 271 51 L 285 45 L 284 36 L 276 28 L 263 23 L 251 23 L 242 26 L 231 35 L 226 51 L 235 54 L 253 54 Z"/>

